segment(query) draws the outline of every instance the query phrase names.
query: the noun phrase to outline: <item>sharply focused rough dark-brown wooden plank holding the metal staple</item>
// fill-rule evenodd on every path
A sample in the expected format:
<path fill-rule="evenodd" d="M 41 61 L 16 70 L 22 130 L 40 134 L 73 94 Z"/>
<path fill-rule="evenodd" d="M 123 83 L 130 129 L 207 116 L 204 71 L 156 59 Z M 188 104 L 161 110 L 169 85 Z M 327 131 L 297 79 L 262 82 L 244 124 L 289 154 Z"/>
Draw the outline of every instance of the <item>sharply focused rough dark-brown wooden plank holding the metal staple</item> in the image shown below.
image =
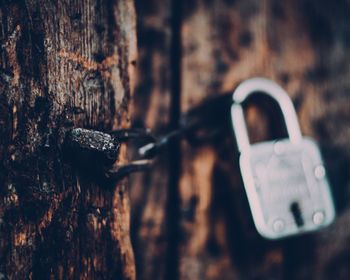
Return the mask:
<path fill-rule="evenodd" d="M 131 0 L 0 1 L 0 279 L 135 279 L 126 182 L 62 155 L 128 126 L 135 23 Z"/>

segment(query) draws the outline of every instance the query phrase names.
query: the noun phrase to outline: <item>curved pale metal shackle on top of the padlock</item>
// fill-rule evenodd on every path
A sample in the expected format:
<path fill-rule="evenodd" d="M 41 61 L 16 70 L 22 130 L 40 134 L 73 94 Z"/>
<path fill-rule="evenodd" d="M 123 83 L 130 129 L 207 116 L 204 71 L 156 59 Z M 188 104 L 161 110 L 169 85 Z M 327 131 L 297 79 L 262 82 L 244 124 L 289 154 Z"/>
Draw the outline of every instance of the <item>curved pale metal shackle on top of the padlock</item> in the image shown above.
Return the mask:
<path fill-rule="evenodd" d="M 252 78 L 242 82 L 233 92 L 231 107 L 232 125 L 236 136 L 239 151 L 248 151 L 250 142 L 244 118 L 242 103 L 254 93 L 264 93 L 272 97 L 280 106 L 287 132 L 292 143 L 302 140 L 300 126 L 292 100 L 287 92 L 275 82 L 265 78 Z"/>

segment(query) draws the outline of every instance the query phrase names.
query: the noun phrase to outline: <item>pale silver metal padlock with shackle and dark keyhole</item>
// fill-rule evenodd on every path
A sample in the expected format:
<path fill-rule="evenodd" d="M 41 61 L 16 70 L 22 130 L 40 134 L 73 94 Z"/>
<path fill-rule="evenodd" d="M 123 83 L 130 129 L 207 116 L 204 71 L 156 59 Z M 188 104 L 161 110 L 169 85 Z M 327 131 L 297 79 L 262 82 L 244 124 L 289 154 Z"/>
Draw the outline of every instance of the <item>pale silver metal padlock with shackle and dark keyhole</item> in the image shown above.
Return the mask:
<path fill-rule="evenodd" d="M 280 106 L 289 138 L 249 143 L 242 103 L 261 93 Z M 278 239 L 329 225 L 335 209 L 322 156 L 316 142 L 302 136 L 288 94 L 273 81 L 246 80 L 233 93 L 231 119 L 257 231 Z"/>

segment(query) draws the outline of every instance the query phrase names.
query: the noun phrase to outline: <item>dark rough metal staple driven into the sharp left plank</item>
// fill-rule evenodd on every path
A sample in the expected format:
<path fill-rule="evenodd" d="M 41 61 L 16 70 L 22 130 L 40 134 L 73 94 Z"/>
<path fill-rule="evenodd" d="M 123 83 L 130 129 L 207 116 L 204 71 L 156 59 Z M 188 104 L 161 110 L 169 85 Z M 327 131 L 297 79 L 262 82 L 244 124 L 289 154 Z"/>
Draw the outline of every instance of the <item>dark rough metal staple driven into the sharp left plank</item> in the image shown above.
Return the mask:
<path fill-rule="evenodd" d="M 118 160 L 121 144 L 135 138 L 155 141 L 149 130 L 121 129 L 105 133 L 74 128 L 66 133 L 64 151 L 78 169 L 92 171 L 99 177 L 116 181 L 132 172 L 143 171 L 153 163 L 150 159 L 141 158 L 113 167 Z"/>

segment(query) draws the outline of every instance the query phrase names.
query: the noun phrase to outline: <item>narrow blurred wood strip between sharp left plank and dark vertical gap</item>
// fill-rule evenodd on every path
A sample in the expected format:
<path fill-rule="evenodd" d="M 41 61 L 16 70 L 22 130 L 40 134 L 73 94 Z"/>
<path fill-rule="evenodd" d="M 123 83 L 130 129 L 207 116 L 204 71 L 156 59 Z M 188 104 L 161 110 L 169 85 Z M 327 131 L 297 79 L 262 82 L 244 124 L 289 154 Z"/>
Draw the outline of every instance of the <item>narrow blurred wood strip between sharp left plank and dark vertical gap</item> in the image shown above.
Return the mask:
<path fill-rule="evenodd" d="M 133 125 L 161 134 L 173 119 L 171 1 L 136 1 L 136 9 L 139 52 Z M 177 205 L 169 197 L 177 180 L 172 178 L 169 157 L 165 153 L 151 172 L 132 178 L 131 228 L 139 279 L 171 279 L 176 269 L 177 226 L 171 208 Z"/>

